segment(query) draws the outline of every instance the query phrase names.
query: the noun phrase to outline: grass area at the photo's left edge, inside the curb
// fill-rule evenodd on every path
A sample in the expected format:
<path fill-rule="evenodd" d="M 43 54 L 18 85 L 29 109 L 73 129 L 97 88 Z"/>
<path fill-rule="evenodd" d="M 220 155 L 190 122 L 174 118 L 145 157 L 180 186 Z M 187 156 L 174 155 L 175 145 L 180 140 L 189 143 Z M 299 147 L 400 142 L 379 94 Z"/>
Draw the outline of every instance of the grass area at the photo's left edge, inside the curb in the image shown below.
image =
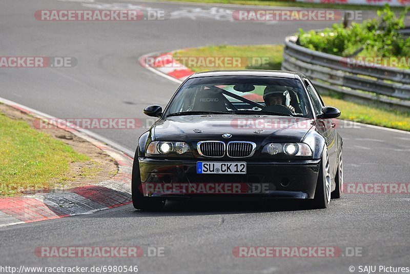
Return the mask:
<path fill-rule="evenodd" d="M 32 129 L 26 122 L 0 113 L 0 195 L 64 183 L 71 162 L 88 160 L 88 156 Z"/>

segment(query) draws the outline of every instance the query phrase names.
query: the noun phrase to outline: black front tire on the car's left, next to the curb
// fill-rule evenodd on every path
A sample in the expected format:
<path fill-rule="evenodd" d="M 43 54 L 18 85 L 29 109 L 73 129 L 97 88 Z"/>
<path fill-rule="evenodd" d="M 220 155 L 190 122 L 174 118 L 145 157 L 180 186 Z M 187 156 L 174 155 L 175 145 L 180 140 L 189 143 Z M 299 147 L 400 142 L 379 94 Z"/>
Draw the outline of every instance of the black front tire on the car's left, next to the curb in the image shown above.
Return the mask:
<path fill-rule="evenodd" d="M 159 211 L 165 205 L 165 200 L 158 198 L 145 197 L 141 188 L 141 177 L 139 174 L 138 163 L 138 148 L 134 156 L 134 163 L 132 165 L 132 177 L 131 177 L 131 194 L 132 205 L 135 209 L 147 210 L 147 211 Z"/>

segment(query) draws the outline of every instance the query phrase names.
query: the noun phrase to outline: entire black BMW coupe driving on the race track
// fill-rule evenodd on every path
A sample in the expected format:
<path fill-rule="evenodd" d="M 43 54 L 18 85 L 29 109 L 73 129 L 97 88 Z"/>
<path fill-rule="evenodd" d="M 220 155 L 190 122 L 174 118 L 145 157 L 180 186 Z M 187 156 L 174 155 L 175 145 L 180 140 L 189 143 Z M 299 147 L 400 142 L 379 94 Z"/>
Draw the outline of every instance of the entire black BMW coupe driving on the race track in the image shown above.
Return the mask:
<path fill-rule="evenodd" d="M 136 209 L 171 199 L 308 199 L 326 208 L 343 187 L 342 138 L 306 76 L 211 71 L 188 77 L 138 140 Z"/>

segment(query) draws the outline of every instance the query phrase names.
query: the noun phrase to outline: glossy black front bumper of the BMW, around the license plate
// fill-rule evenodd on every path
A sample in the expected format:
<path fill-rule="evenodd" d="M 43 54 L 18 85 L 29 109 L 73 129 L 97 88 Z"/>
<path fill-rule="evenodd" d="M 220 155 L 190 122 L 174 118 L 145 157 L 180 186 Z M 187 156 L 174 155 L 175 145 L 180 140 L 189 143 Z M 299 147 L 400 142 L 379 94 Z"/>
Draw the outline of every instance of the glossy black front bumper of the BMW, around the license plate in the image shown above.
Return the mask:
<path fill-rule="evenodd" d="M 319 159 L 292 162 L 238 159 L 237 162 L 247 162 L 247 174 L 197 174 L 196 159 L 139 157 L 138 160 L 142 183 L 140 191 L 147 197 L 166 199 L 312 199 L 320 168 Z"/>

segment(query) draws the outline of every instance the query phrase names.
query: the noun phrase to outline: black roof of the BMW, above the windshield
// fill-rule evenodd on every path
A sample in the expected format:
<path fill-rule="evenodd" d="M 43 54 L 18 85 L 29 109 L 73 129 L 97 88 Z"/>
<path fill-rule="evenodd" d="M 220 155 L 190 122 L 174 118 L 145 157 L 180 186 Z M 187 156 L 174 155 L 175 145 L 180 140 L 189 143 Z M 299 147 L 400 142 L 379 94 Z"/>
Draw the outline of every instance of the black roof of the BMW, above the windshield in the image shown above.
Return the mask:
<path fill-rule="evenodd" d="M 210 77 L 210 76 L 270 76 L 283 77 L 291 79 L 301 79 L 305 77 L 303 74 L 293 71 L 285 70 L 213 70 L 197 72 L 192 74 L 189 78 Z"/>

